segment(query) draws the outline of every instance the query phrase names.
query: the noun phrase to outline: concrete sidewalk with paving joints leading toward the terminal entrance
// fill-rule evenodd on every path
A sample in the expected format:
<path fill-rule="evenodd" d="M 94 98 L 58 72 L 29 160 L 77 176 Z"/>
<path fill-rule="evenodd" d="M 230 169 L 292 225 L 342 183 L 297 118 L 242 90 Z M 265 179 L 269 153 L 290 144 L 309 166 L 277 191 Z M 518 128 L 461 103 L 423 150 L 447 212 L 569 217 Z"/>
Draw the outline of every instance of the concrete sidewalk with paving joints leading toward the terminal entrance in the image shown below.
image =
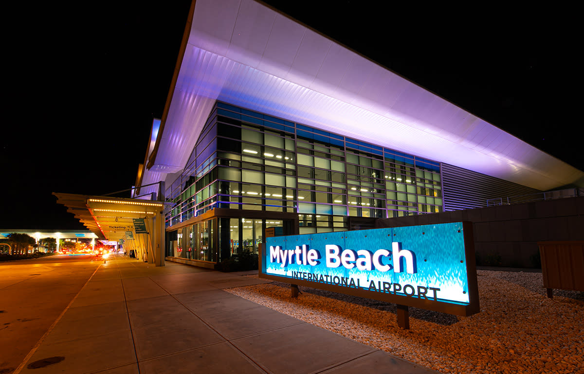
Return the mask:
<path fill-rule="evenodd" d="M 224 288 L 266 280 L 110 257 L 23 373 L 433 373 L 242 299 Z"/>

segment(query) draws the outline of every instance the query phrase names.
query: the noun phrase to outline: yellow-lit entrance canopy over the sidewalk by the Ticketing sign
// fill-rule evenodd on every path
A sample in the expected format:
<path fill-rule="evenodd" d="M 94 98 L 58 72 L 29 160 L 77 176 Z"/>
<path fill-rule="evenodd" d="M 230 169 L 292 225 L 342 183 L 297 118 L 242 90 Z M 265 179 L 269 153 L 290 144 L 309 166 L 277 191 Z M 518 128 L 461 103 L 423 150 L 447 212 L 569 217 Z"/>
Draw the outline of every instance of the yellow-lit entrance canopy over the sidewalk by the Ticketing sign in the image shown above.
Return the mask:
<path fill-rule="evenodd" d="M 81 221 L 100 240 L 119 241 L 134 230 L 133 218 L 152 218 L 164 204 L 142 199 L 57 193 L 57 203 Z"/>

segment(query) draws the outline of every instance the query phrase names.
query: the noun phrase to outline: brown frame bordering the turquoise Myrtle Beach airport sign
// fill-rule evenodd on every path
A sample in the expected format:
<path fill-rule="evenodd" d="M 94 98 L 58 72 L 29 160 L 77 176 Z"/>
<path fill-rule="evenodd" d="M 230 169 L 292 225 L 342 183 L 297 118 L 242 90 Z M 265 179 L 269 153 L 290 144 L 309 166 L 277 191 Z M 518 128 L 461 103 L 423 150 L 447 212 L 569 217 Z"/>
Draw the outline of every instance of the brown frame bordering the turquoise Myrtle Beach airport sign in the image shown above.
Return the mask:
<path fill-rule="evenodd" d="M 456 303 L 456 302 L 444 302 L 444 301 L 434 301 L 428 298 L 417 298 L 409 297 L 406 295 L 398 295 L 377 291 L 369 291 L 364 288 L 351 288 L 343 287 L 340 285 L 330 284 L 330 283 L 319 283 L 311 280 L 305 280 L 302 278 L 292 278 L 287 276 L 279 276 L 274 274 L 265 273 L 265 253 L 269 256 L 270 249 L 267 245 L 267 240 L 259 253 L 259 270 L 258 275 L 260 278 L 265 278 L 269 280 L 279 281 L 288 284 L 303 285 L 304 287 L 318 288 L 321 290 L 338 292 L 340 294 L 353 295 L 357 297 L 376 299 L 380 301 L 390 302 L 397 305 L 413 306 L 414 308 L 427 309 L 429 311 L 443 312 L 451 315 L 458 316 L 470 316 L 472 314 L 479 312 L 479 295 L 478 295 L 478 283 L 477 283 L 477 267 L 475 263 L 475 248 L 474 248 L 474 235 L 472 232 L 472 223 L 469 221 L 457 221 L 447 224 L 461 223 L 463 227 L 464 235 L 464 263 L 465 270 L 467 274 L 467 287 L 468 287 L 468 303 Z M 436 226 L 440 224 L 423 224 L 423 225 L 411 225 L 404 227 L 418 227 L 418 226 Z M 392 227 L 401 228 L 401 227 Z M 385 228 L 390 229 L 390 228 Z M 383 229 L 373 229 L 373 230 L 383 230 Z M 353 231 L 343 231 L 346 233 L 357 233 L 359 231 L 371 231 L 371 230 L 353 230 Z M 324 233 L 323 233 L 324 234 Z M 329 233 L 326 233 L 329 234 Z M 330 233 L 335 234 L 335 233 Z M 319 235 L 319 234 L 305 234 L 305 235 Z M 288 237 L 303 237 L 304 235 L 287 235 Z M 284 237 L 279 237 L 284 238 Z M 267 239 L 267 238 L 266 238 Z M 308 243 L 308 241 L 307 241 Z M 390 246 L 391 248 L 391 246 Z M 324 259 L 323 259 L 324 260 Z"/>

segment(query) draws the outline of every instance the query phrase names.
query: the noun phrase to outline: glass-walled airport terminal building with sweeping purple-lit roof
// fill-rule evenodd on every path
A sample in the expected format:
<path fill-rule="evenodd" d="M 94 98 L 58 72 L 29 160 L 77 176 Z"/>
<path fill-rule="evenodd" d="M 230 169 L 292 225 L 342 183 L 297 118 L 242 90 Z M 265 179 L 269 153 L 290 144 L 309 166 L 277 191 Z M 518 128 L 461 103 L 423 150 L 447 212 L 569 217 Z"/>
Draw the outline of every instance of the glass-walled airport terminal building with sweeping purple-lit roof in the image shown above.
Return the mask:
<path fill-rule="evenodd" d="M 135 196 L 164 182 L 166 256 L 373 227 L 582 186 L 584 173 L 253 0 L 196 0 Z"/>

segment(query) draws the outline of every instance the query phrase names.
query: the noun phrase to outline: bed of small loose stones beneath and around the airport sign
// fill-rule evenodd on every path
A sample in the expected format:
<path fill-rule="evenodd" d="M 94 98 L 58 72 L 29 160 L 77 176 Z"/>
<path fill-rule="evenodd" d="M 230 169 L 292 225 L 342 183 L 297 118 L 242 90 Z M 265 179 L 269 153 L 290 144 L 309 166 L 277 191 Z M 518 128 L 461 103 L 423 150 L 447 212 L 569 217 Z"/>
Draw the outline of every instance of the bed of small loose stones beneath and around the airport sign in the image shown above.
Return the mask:
<path fill-rule="evenodd" d="M 584 373 L 584 292 L 545 296 L 541 273 L 477 270 L 481 312 L 410 310 L 335 292 L 266 283 L 225 291 L 442 373 Z M 255 276 L 257 277 L 257 276 Z"/>

